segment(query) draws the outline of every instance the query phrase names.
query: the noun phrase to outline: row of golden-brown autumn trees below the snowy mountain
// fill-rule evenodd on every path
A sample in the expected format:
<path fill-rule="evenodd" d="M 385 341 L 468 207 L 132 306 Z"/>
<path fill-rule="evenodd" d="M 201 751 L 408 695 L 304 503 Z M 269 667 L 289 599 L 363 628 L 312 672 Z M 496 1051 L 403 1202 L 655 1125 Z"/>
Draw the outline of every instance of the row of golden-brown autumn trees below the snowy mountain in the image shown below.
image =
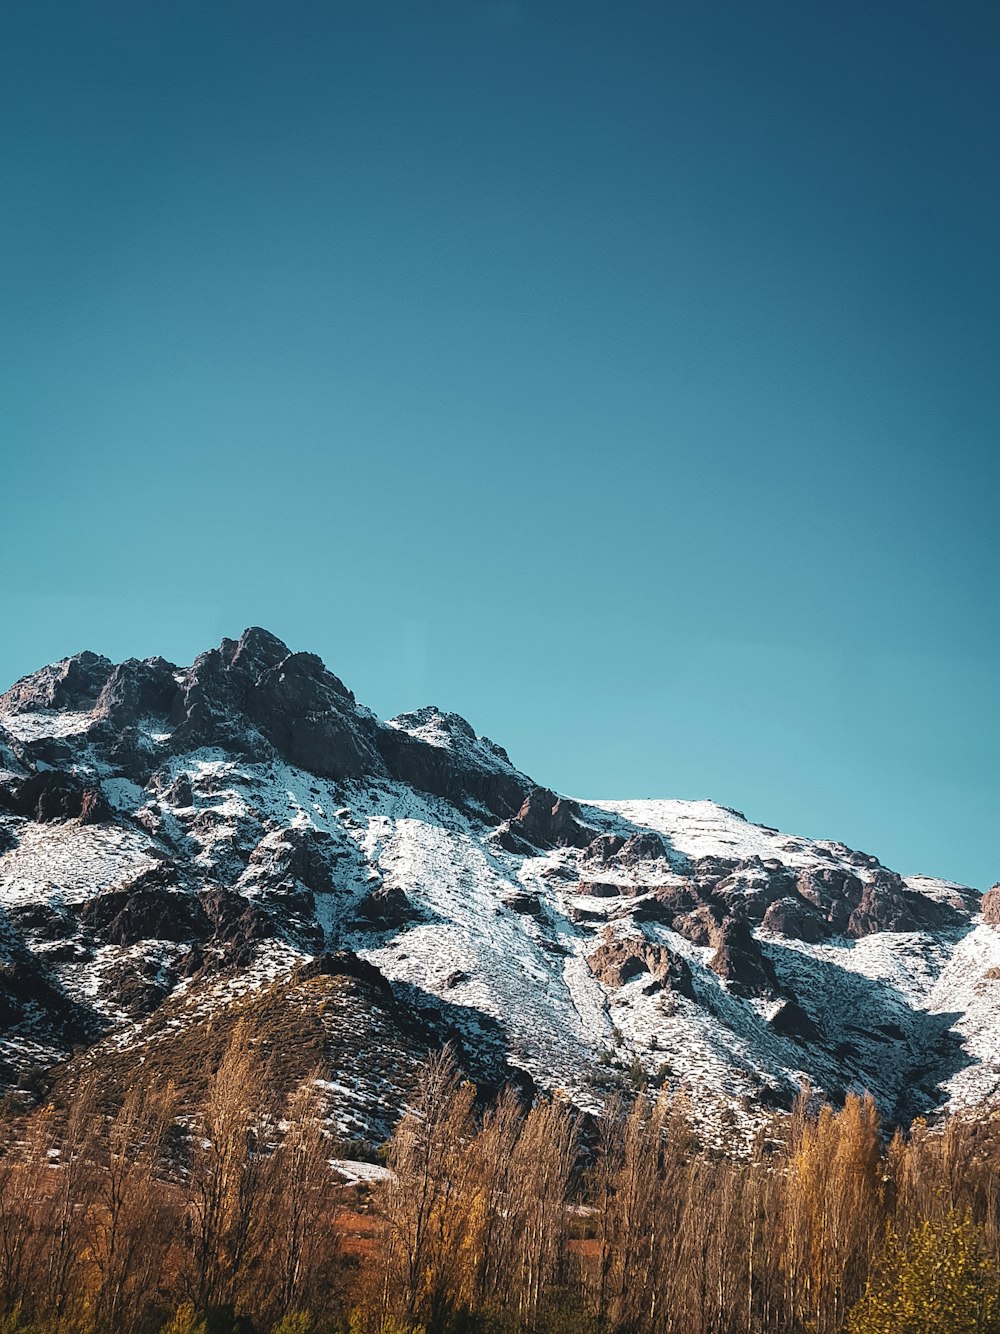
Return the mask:
<path fill-rule="evenodd" d="M 1000 1331 L 1000 1130 L 885 1137 L 808 1090 L 748 1154 L 683 1093 L 584 1123 L 481 1105 L 445 1050 L 388 1143 L 363 1247 L 317 1075 L 276 1098 L 237 1027 L 204 1105 L 141 1070 L 11 1115 L 0 1334 L 984 1334 Z"/>

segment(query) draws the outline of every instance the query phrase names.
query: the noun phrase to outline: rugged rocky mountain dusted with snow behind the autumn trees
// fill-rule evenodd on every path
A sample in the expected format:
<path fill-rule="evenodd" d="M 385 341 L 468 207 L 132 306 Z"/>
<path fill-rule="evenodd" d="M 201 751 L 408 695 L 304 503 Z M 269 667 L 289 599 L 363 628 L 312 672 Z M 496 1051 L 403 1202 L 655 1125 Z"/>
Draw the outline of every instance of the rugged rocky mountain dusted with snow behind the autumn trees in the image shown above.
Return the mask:
<path fill-rule="evenodd" d="M 456 714 L 380 722 L 264 630 L 0 695 L 0 1086 L 192 1095 L 249 1018 L 341 1134 L 428 1047 L 596 1110 L 647 1079 L 739 1137 L 808 1079 L 892 1121 L 1000 1086 L 1000 887 L 708 800 L 572 800 Z"/>

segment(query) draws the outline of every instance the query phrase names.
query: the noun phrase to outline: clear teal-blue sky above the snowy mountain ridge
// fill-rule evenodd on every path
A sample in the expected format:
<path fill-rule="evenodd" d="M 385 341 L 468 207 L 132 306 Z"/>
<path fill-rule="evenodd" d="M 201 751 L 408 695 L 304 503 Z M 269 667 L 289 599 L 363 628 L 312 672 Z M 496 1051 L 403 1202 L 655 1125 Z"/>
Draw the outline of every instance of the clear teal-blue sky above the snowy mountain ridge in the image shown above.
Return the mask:
<path fill-rule="evenodd" d="M 1000 879 L 1000 8 L 8 0 L 0 678 L 264 624 Z"/>

